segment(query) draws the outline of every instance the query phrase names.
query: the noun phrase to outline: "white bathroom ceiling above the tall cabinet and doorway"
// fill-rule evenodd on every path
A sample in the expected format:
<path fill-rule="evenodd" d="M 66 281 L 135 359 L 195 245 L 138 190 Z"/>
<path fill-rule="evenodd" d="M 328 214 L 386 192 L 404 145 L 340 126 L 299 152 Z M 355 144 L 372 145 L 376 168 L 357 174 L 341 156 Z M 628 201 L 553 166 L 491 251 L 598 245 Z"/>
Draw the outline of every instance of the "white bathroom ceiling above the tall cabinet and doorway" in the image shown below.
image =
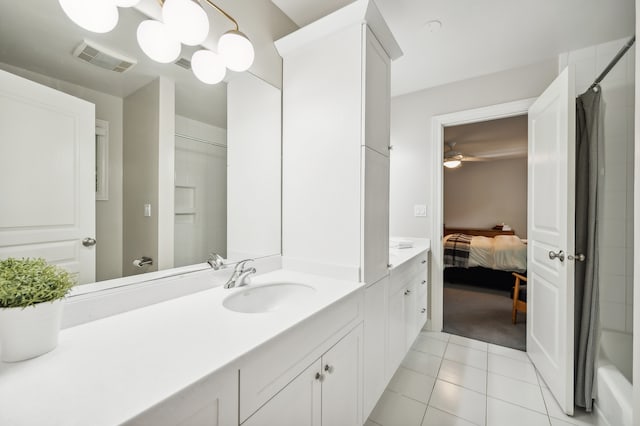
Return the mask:
<path fill-rule="evenodd" d="M 271 0 L 302 26 L 352 0 Z M 404 56 L 392 95 L 518 68 L 629 37 L 634 0 L 375 0 Z M 431 32 L 428 22 L 442 23 Z"/>

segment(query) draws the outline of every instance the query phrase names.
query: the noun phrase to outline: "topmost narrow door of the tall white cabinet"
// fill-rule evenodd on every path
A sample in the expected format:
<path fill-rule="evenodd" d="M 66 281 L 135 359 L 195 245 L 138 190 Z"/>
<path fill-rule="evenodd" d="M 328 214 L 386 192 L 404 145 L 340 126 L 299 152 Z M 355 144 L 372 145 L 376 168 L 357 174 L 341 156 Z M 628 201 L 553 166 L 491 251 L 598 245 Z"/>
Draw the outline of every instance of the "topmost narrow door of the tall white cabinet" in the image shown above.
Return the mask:
<path fill-rule="evenodd" d="M 365 144 L 388 157 L 391 65 L 389 56 L 376 37 L 368 27 L 365 28 Z"/>

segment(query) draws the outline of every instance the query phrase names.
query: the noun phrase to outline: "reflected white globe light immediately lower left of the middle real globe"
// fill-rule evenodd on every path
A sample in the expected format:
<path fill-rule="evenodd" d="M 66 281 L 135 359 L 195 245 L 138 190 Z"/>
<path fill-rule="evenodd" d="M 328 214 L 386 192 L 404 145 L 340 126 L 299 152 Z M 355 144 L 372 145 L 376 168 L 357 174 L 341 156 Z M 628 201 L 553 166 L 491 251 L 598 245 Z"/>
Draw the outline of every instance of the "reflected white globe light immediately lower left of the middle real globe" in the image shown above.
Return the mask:
<path fill-rule="evenodd" d="M 151 59 L 163 64 L 180 56 L 180 42 L 166 24 L 149 19 L 138 26 L 138 44 Z"/>

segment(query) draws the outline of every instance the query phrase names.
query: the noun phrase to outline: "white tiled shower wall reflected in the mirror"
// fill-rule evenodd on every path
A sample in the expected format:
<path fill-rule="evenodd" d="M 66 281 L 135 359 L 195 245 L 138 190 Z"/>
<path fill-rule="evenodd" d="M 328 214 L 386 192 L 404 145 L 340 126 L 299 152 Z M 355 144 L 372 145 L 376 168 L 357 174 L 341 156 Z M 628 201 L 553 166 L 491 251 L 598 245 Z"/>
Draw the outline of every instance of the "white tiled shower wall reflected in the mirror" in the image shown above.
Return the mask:
<path fill-rule="evenodd" d="M 227 256 L 226 143 L 225 129 L 176 116 L 175 267 Z"/>

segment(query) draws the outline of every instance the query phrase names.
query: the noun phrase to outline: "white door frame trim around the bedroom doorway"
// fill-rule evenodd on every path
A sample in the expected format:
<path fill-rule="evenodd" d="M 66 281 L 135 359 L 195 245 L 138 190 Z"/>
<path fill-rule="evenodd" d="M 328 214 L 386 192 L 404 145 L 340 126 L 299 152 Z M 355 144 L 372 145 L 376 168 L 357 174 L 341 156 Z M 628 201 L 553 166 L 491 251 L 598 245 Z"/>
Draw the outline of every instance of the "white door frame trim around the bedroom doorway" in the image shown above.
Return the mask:
<path fill-rule="evenodd" d="M 442 158 L 444 155 L 444 128 L 458 126 L 461 124 L 477 123 L 482 121 L 497 120 L 500 118 L 514 117 L 527 114 L 529 107 L 536 98 L 521 99 L 503 104 L 491 105 L 482 108 L 469 109 L 465 111 L 452 112 L 449 114 L 436 115 L 431 119 L 431 143 L 433 144 L 431 167 L 434 173 L 433 191 L 431 192 L 431 205 L 433 214 L 431 215 L 431 298 L 432 309 L 431 329 L 442 330 L 443 312 L 443 168 Z"/>

